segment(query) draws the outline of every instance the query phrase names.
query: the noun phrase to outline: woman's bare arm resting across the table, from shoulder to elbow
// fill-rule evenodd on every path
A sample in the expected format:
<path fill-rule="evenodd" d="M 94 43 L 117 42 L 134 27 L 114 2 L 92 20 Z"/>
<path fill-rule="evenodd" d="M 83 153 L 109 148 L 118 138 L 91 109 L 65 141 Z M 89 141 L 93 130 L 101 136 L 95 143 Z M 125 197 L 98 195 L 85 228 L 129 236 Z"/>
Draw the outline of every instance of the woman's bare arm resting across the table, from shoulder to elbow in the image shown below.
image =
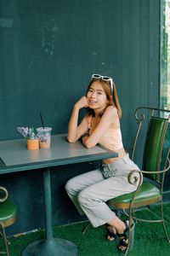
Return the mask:
<path fill-rule="evenodd" d="M 102 115 L 99 125 L 96 126 L 94 132 L 89 137 L 83 137 L 82 143 L 87 148 L 94 148 L 99 143 L 99 139 L 105 134 L 105 131 L 109 129 L 111 124 L 114 123 L 115 128 L 119 128 L 119 118 L 116 108 L 109 106 L 105 109 L 105 113 Z"/>

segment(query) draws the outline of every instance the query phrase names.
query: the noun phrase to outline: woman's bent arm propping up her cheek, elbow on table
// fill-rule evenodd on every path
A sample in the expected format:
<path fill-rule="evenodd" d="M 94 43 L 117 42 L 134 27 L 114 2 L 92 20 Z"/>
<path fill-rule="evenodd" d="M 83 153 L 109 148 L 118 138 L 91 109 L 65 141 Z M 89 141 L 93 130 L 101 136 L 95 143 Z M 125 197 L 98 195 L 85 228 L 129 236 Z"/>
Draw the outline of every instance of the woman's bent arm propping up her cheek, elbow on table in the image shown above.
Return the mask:
<path fill-rule="evenodd" d="M 71 113 L 71 119 L 68 125 L 67 139 L 69 143 L 76 143 L 77 140 L 82 136 L 82 134 L 88 131 L 88 122 L 86 117 L 84 117 L 82 119 L 81 124 L 78 125 L 79 110 L 81 108 L 87 108 L 87 107 L 88 107 L 88 102 L 85 96 L 82 96 L 82 98 L 74 105 Z"/>

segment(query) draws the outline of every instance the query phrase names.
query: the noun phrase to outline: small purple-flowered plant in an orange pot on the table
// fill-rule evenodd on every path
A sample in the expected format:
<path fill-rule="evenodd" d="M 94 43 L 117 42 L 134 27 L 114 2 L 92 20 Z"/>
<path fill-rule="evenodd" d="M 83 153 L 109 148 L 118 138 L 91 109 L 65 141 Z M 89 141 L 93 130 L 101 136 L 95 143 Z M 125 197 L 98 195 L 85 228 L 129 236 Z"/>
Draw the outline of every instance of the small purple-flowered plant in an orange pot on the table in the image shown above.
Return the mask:
<path fill-rule="evenodd" d="M 26 137 L 26 139 L 27 139 L 27 148 L 29 150 L 39 148 L 39 138 L 35 134 L 34 128 L 18 127 L 17 131 L 19 131 L 20 134 L 22 134 L 22 136 Z"/>

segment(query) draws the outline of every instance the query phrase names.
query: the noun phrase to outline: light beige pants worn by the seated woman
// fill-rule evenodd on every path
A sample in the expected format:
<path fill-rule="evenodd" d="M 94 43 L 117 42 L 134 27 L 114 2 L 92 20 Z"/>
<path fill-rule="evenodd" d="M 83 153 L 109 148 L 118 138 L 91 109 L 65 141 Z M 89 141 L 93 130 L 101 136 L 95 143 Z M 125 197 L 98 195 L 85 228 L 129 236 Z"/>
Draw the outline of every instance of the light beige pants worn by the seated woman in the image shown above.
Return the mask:
<path fill-rule="evenodd" d="M 133 170 L 139 167 L 126 154 L 112 164 L 102 165 L 99 170 L 71 178 L 65 189 L 78 212 L 85 213 L 91 224 L 98 227 L 115 217 L 115 212 L 105 202 L 136 189 L 127 181 L 128 172 Z"/>

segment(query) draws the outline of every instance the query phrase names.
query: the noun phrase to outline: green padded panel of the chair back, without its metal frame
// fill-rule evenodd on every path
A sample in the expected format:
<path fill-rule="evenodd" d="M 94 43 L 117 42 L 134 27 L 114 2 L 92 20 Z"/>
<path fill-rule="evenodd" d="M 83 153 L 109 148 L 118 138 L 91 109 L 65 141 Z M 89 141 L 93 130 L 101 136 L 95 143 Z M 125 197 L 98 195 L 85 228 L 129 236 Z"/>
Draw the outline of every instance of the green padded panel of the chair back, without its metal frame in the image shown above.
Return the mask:
<path fill-rule="evenodd" d="M 144 143 L 144 154 L 143 154 L 143 167 L 142 170 L 149 172 L 160 171 L 161 166 L 161 154 L 165 136 L 167 132 L 168 119 L 159 117 L 150 117 L 150 123 Z M 159 180 L 157 174 L 148 174 L 156 181 Z"/>

